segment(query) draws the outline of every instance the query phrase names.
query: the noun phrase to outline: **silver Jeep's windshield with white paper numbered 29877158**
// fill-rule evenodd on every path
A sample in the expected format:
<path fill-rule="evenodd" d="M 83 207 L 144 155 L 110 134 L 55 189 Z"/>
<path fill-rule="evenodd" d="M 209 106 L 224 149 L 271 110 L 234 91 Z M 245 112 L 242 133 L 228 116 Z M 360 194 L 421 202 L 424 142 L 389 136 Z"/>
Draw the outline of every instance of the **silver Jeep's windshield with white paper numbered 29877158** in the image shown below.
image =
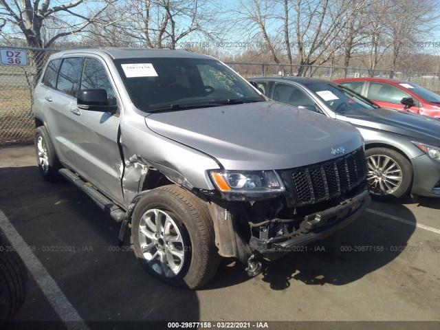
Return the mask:
<path fill-rule="evenodd" d="M 265 98 L 228 66 L 204 58 L 115 60 L 131 100 L 142 111 L 216 107 Z"/>

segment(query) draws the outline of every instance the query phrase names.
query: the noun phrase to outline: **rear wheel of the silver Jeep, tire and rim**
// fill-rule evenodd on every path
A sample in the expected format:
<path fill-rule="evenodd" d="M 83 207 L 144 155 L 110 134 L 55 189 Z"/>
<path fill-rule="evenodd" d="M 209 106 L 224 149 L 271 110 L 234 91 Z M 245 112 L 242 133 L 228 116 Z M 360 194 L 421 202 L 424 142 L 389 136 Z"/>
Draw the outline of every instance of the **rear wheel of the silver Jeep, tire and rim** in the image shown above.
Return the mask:
<path fill-rule="evenodd" d="M 56 157 L 54 145 L 50 141 L 45 126 L 40 126 L 35 131 L 35 155 L 41 175 L 47 181 L 58 181 L 61 178 L 58 170 L 62 166 Z"/>

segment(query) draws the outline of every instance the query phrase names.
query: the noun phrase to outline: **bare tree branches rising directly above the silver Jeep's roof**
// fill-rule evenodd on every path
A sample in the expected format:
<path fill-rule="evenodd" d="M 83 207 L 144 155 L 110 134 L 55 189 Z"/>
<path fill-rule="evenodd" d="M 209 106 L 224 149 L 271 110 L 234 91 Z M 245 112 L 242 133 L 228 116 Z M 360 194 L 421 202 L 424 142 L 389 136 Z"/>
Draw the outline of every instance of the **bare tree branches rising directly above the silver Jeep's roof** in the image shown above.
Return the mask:
<path fill-rule="evenodd" d="M 183 41 L 190 45 L 191 36 L 208 39 L 214 14 L 206 0 L 127 0 L 115 3 L 109 10 L 108 19 L 89 31 L 89 39 L 170 49 Z M 117 41 L 111 40 L 114 32 L 120 37 Z M 199 46 L 199 42 L 194 45 Z"/>

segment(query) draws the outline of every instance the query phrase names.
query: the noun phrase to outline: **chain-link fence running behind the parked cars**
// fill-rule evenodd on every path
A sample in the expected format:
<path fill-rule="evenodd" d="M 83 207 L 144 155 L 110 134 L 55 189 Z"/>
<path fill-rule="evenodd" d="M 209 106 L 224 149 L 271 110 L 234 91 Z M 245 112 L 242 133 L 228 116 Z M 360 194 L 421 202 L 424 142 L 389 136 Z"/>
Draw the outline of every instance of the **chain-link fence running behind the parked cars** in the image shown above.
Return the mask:
<path fill-rule="evenodd" d="M 47 58 L 58 50 L 0 46 L 0 148 L 14 144 L 32 143 L 32 92 L 39 80 Z M 6 51 L 12 53 L 6 53 Z M 25 53 L 28 65 L 14 63 L 14 54 Z M 5 56 L 5 55 L 12 55 Z M 12 63 L 8 63 L 12 61 Z M 440 94 L 440 74 L 393 72 L 346 67 L 317 67 L 312 65 L 278 65 L 264 63 L 227 63 L 244 78 L 256 76 L 308 76 L 334 80 L 339 78 L 380 77 L 407 80 Z"/>

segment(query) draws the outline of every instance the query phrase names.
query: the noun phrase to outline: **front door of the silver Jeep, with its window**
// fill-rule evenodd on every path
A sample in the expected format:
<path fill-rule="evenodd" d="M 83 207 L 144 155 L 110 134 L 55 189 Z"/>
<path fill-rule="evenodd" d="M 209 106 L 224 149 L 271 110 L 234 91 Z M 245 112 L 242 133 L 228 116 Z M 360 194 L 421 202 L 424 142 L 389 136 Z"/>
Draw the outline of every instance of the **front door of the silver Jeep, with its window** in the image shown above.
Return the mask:
<path fill-rule="evenodd" d="M 110 104 L 118 104 L 115 87 L 109 79 L 106 65 L 100 58 L 85 58 L 80 89 L 103 88 Z M 121 177 L 123 164 L 118 147 L 118 130 L 122 109 L 117 113 L 78 109 L 72 102 L 69 111 L 74 122 L 75 167 L 82 177 L 104 195 L 124 205 Z"/>

